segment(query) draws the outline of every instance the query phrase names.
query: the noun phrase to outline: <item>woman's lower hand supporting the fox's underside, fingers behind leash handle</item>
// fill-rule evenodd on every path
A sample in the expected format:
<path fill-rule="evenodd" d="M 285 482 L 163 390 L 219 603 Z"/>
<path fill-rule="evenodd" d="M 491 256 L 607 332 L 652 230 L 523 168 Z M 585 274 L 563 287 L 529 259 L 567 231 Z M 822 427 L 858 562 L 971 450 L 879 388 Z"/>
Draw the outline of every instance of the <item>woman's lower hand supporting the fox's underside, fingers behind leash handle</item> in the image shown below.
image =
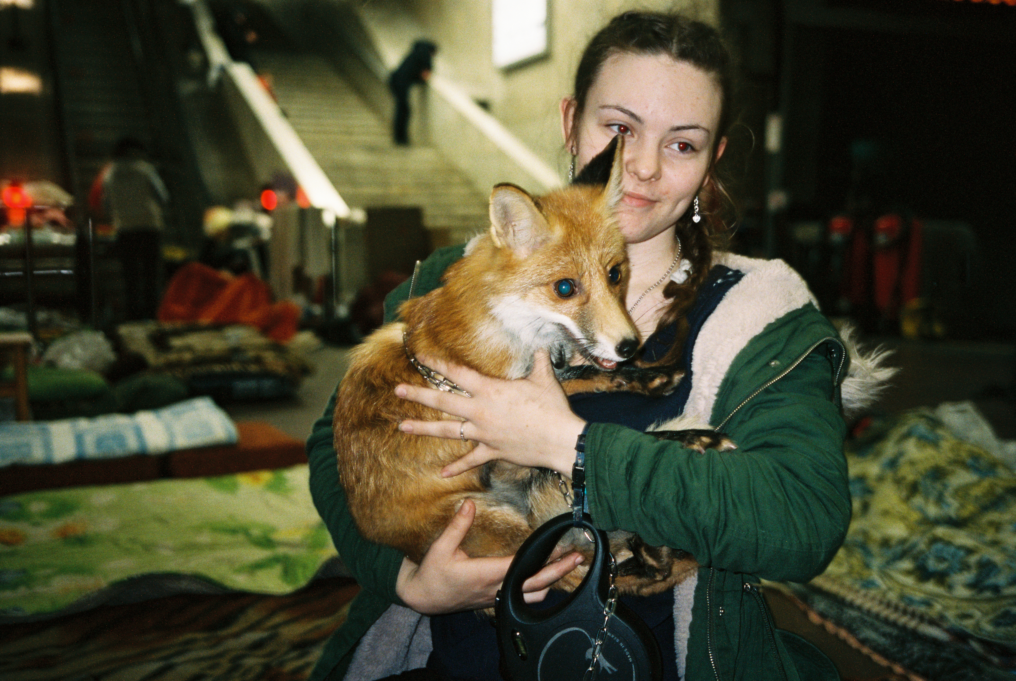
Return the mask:
<path fill-rule="evenodd" d="M 402 559 L 395 593 L 405 605 L 424 615 L 479 610 L 494 605 L 494 597 L 504 581 L 512 557 L 469 558 L 459 548 L 475 512 L 477 505 L 466 499 L 448 527 L 434 540 L 420 565 L 408 558 Z M 569 553 L 548 563 L 522 584 L 525 602 L 543 601 L 550 585 L 581 562 L 582 556 Z"/>

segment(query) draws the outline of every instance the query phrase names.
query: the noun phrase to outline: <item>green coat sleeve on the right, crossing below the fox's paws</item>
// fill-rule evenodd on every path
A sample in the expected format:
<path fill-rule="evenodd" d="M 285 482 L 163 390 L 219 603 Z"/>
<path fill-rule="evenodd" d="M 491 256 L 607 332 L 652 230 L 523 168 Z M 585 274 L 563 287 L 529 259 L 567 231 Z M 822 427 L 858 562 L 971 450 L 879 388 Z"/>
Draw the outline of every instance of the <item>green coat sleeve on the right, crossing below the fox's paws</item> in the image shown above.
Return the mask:
<path fill-rule="evenodd" d="M 822 353 L 809 355 L 724 427 L 739 445 L 731 452 L 594 424 L 586 476 L 596 524 L 733 572 L 791 581 L 820 573 L 850 517 L 834 373 Z"/>

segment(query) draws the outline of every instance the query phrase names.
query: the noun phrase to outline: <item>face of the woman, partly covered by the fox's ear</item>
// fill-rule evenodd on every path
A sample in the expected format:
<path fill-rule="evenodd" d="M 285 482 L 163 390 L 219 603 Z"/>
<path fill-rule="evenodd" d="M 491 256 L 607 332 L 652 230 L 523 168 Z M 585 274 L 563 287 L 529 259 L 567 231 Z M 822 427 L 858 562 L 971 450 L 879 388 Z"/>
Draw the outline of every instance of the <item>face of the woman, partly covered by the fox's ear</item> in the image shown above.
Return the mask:
<path fill-rule="evenodd" d="M 565 143 L 576 154 L 576 169 L 616 134 L 626 136 L 618 220 L 628 243 L 659 235 L 691 205 L 713 161 L 721 98 L 712 76 L 692 64 L 666 55 L 619 53 L 604 62 L 577 122 L 575 101 L 561 103 Z M 716 144 L 716 159 L 725 144 L 725 137 Z"/>

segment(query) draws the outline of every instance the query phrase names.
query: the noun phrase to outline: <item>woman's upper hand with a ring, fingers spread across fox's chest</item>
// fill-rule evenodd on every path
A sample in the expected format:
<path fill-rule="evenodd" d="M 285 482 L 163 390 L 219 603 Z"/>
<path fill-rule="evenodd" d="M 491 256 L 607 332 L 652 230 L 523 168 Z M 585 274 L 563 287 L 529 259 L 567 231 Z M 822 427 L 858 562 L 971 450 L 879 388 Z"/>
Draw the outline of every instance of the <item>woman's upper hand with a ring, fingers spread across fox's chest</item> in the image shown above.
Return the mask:
<path fill-rule="evenodd" d="M 460 385 L 472 397 L 430 387 L 399 384 L 395 394 L 459 417 L 463 421 L 403 421 L 399 429 L 478 442 L 475 448 L 442 471 L 445 477 L 500 458 L 518 466 L 543 467 L 571 476 L 575 439 L 585 422 L 568 406 L 554 375 L 550 357 L 536 353 L 532 371 L 525 378 L 506 381 L 471 369 L 430 358 L 421 361 Z"/>

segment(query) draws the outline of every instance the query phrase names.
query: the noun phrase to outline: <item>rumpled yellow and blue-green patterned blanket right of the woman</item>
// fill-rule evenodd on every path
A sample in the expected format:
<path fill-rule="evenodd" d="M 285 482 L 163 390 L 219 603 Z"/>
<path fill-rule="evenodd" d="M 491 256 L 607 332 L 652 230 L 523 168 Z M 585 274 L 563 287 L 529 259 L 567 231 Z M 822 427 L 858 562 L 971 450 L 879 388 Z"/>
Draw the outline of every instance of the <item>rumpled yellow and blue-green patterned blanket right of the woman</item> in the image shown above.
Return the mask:
<path fill-rule="evenodd" d="M 927 409 L 874 424 L 847 465 L 850 529 L 811 584 L 927 635 L 1016 642 L 1016 473 Z"/>

